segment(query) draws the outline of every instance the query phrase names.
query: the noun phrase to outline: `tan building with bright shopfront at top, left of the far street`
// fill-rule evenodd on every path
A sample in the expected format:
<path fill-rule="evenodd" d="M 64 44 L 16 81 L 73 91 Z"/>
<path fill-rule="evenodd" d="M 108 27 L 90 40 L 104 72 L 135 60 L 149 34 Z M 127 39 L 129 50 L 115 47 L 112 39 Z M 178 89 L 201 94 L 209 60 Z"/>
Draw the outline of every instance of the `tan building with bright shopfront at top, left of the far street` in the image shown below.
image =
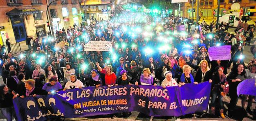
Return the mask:
<path fill-rule="evenodd" d="M 112 0 L 82 0 L 81 6 L 85 5 L 85 18 L 99 20 L 110 19 L 110 11 L 113 8 Z"/>

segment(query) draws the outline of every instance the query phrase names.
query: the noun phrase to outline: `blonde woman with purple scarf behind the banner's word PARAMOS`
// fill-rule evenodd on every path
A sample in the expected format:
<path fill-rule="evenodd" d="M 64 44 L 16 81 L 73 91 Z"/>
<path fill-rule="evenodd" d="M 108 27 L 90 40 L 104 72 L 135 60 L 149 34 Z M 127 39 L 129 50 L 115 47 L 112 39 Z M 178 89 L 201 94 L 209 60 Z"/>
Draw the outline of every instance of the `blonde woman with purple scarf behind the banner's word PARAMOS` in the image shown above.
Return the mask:
<path fill-rule="evenodd" d="M 149 68 L 144 68 L 143 69 L 143 74 L 140 75 L 140 79 L 139 79 L 139 82 L 135 82 L 135 85 L 154 85 L 154 86 L 157 86 L 157 84 L 154 82 L 154 78 L 150 75 L 151 74 L 151 71 Z"/>

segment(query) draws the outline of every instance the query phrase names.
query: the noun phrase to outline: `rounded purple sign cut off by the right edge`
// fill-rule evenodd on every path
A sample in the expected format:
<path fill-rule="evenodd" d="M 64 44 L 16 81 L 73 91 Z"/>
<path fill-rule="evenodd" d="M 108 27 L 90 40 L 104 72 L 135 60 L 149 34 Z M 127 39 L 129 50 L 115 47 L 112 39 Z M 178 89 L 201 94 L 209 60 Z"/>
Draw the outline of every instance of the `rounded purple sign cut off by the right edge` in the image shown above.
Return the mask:
<path fill-rule="evenodd" d="M 236 88 L 236 92 L 238 96 L 240 94 L 256 96 L 256 80 L 254 78 L 243 80 L 238 84 L 238 87 Z"/>

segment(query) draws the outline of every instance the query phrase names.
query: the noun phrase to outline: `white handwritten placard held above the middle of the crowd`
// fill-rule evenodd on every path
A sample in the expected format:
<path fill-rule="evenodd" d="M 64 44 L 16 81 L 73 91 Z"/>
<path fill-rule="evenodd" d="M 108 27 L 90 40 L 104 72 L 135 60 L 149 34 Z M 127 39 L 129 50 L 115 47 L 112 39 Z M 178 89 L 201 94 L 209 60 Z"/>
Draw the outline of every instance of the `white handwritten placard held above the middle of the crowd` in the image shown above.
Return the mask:
<path fill-rule="evenodd" d="M 84 51 L 110 51 L 111 49 L 111 41 L 90 41 L 84 46 Z"/>

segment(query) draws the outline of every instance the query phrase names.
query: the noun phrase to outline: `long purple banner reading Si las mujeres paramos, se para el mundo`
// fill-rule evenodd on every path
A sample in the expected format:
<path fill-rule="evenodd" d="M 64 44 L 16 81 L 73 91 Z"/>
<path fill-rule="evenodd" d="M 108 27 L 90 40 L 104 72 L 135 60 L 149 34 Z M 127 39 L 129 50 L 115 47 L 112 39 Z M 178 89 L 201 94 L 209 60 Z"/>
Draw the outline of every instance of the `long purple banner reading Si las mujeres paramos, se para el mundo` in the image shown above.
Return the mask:
<path fill-rule="evenodd" d="M 45 121 L 138 111 L 149 116 L 181 116 L 207 110 L 209 82 L 182 87 L 119 85 L 70 89 L 55 95 L 14 99 L 18 121 Z"/>

